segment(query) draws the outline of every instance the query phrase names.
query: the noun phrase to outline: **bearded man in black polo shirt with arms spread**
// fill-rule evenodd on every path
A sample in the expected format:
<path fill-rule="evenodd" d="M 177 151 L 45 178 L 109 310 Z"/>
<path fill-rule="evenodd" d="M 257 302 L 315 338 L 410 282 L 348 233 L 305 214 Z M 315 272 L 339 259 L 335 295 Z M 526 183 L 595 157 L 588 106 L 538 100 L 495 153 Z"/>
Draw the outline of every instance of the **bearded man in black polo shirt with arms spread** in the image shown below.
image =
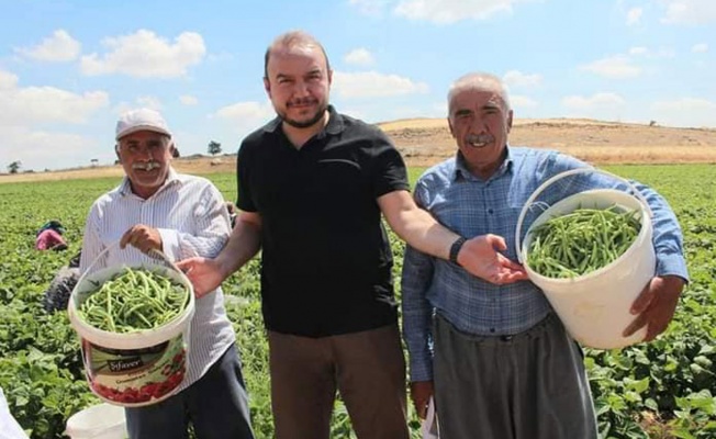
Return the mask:
<path fill-rule="evenodd" d="M 199 294 L 262 250 L 278 439 L 327 439 L 336 390 L 360 439 L 403 439 L 405 361 L 381 213 L 411 246 L 495 283 L 525 279 L 494 235 L 465 239 L 418 209 L 405 165 L 378 128 L 328 105 L 332 70 L 303 32 L 267 49 L 278 117 L 238 151 L 240 214 L 215 259 L 179 263 Z"/>

